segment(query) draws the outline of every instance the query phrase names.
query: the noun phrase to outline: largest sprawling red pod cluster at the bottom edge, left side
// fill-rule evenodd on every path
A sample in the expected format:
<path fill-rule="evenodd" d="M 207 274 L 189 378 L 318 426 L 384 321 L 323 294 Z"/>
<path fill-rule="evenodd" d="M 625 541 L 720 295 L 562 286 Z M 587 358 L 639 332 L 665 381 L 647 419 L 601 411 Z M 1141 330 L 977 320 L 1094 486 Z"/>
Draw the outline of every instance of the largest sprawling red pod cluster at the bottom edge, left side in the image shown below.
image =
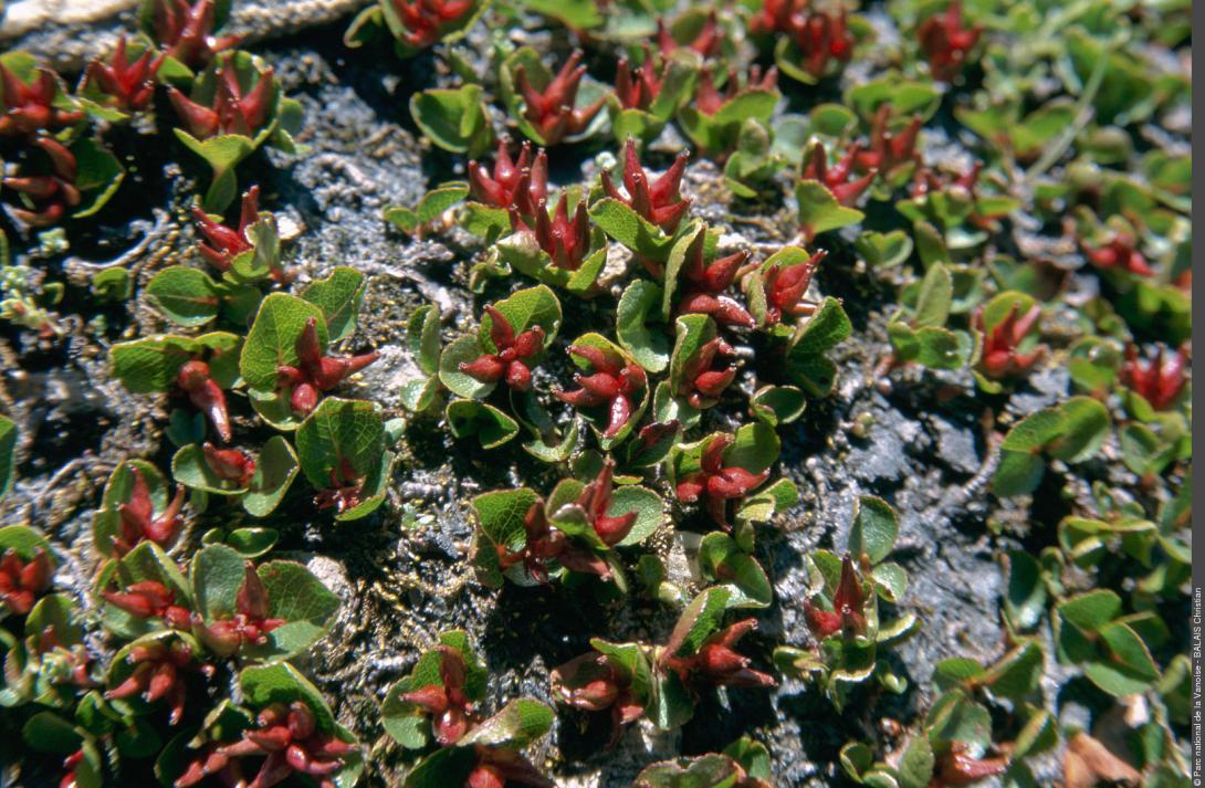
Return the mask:
<path fill-rule="evenodd" d="M 334 775 L 343 768 L 343 758 L 355 752 L 355 745 L 319 733 L 313 712 L 300 700 L 288 706 L 272 704 L 259 712 L 255 722 L 259 727 L 245 730 L 241 741 L 218 747 L 189 764 L 175 787 L 189 788 L 210 775 L 222 774 L 231 758 L 266 755 L 247 788 L 269 788 L 294 772 L 308 775 L 318 788 L 335 788 Z"/>

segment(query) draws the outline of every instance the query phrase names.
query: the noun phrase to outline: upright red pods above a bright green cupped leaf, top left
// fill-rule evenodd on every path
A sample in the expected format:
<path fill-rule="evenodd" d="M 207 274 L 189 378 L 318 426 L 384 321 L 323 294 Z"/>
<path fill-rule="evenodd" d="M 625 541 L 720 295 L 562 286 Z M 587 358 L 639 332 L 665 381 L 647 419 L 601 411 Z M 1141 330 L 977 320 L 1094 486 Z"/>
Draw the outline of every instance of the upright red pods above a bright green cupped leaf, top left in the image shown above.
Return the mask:
<path fill-rule="evenodd" d="M 269 66 L 259 73 L 254 87 L 243 93 L 234 64 L 227 57 L 214 75 L 213 96 L 208 105 L 199 104 L 176 88 L 167 88 L 167 98 L 176 114 L 198 140 L 219 134 L 254 136 L 276 108 L 276 77 Z"/>

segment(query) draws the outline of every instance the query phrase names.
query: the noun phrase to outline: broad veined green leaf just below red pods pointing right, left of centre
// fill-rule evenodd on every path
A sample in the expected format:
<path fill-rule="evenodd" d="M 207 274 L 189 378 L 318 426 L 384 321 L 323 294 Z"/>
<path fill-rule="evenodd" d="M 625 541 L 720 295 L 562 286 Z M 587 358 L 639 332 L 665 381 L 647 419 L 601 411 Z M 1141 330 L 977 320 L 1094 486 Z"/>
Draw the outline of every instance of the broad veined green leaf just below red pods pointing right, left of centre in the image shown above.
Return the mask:
<path fill-rule="evenodd" d="M 386 454 L 381 407 L 328 396 L 298 428 L 296 443 L 301 470 L 317 489 L 330 487 L 331 474 L 343 460 L 355 474 L 371 476 L 381 470 Z"/>

